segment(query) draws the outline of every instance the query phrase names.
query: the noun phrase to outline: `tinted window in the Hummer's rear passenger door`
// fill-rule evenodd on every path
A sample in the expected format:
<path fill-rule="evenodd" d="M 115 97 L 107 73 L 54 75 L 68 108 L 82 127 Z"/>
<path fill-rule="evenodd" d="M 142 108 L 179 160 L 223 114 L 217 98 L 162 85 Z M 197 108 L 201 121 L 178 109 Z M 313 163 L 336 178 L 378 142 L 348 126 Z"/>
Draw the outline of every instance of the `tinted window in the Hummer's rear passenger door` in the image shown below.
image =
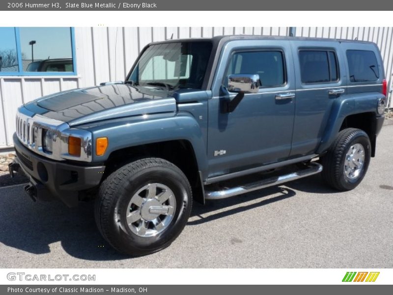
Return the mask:
<path fill-rule="evenodd" d="M 334 51 L 299 51 L 302 83 L 332 83 L 339 79 L 337 57 Z"/>

